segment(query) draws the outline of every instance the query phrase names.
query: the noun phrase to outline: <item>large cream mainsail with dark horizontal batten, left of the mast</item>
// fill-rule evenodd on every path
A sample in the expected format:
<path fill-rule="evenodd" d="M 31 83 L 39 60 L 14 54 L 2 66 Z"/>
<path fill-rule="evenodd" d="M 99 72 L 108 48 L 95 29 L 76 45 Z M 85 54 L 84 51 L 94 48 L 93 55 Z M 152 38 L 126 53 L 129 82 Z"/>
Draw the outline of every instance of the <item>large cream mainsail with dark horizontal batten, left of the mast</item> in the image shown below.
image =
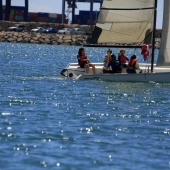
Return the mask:
<path fill-rule="evenodd" d="M 154 0 L 104 0 L 98 43 L 141 43 L 153 29 Z"/>

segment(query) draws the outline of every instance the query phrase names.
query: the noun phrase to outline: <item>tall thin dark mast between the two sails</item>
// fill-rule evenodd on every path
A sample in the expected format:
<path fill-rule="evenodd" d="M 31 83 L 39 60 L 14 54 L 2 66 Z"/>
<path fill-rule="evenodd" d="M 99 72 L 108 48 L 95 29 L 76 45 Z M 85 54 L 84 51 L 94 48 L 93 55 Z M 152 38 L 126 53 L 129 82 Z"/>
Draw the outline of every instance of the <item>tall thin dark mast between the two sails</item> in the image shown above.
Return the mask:
<path fill-rule="evenodd" d="M 156 31 L 156 17 L 157 17 L 157 0 L 155 0 L 155 8 L 154 8 L 154 23 L 153 23 L 153 36 L 152 36 L 151 72 L 153 72 L 154 55 L 155 55 L 155 31 Z"/>

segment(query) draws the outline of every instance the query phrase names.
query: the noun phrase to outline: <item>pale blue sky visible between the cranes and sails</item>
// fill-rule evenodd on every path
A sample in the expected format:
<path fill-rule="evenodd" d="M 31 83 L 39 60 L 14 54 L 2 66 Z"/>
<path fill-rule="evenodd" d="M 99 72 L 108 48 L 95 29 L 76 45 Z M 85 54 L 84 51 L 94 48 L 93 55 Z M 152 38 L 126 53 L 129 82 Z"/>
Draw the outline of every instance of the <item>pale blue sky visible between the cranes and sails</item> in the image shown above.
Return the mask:
<path fill-rule="evenodd" d="M 5 4 L 6 0 L 3 0 L 3 4 Z M 158 8 L 157 8 L 157 29 L 162 28 L 162 20 L 163 20 L 163 1 L 158 0 Z M 24 6 L 25 0 L 11 0 L 11 4 L 14 6 Z M 67 7 L 67 5 L 66 5 Z M 95 3 L 93 10 L 99 11 L 99 4 Z M 79 10 L 90 10 L 89 3 L 77 3 L 77 9 L 75 13 L 78 14 Z M 48 12 L 48 13 L 62 13 L 62 0 L 29 0 L 29 12 Z"/>

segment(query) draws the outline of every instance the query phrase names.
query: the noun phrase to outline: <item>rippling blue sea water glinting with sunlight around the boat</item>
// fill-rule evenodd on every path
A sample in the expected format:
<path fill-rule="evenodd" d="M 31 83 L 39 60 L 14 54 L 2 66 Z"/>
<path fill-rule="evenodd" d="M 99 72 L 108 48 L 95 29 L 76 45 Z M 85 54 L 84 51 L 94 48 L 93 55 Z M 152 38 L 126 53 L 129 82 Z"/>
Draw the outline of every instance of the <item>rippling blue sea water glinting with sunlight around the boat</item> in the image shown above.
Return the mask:
<path fill-rule="evenodd" d="M 78 49 L 0 43 L 0 169 L 170 169 L 170 84 L 64 80 Z"/>

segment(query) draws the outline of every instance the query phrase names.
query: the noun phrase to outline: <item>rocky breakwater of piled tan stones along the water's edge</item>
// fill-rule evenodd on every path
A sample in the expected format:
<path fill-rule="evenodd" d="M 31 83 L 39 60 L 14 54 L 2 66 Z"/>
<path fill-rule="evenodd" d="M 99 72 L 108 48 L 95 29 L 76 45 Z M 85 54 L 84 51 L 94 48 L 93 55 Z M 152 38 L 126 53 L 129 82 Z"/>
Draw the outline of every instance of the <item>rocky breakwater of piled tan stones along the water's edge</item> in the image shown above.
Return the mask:
<path fill-rule="evenodd" d="M 87 35 L 43 34 L 32 32 L 0 32 L 1 42 L 57 44 L 57 45 L 84 45 Z"/>

